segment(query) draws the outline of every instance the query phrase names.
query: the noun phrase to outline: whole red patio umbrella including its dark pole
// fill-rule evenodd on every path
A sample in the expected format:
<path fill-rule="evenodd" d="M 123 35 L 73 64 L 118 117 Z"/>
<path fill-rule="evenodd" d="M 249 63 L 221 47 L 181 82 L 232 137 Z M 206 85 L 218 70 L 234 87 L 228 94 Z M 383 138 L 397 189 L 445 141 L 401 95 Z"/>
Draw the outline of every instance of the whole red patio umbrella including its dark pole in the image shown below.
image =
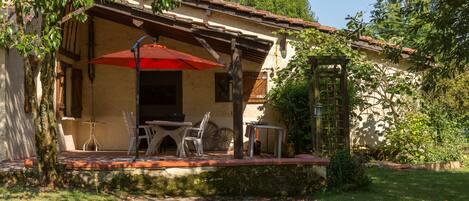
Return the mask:
<path fill-rule="evenodd" d="M 162 45 L 150 44 L 140 47 L 143 36 L 132 49 L 106 54 L 90 61 L 92 64 L 108 64 L 136 69 L 135 159 L 138 158 L 138 135 L 140 124 L 140 71 L 141 70 L 205 70 L 221 68 L 222 64 L 190 54 L 171 50 Z"/>

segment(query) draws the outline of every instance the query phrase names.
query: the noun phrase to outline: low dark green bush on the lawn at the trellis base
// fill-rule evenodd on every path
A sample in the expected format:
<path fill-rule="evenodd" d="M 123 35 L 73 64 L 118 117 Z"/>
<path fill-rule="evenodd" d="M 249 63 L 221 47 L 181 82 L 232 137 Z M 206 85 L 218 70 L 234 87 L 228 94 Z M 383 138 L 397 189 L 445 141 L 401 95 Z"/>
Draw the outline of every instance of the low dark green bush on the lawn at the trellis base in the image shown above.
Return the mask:
<path fill-rule="evenodd" d="M 327 166 L 327 188 L 329 190 L 356 190 L 367 187 L 371 179 L 365 168 L 346 150 L 337 151 Z"/>

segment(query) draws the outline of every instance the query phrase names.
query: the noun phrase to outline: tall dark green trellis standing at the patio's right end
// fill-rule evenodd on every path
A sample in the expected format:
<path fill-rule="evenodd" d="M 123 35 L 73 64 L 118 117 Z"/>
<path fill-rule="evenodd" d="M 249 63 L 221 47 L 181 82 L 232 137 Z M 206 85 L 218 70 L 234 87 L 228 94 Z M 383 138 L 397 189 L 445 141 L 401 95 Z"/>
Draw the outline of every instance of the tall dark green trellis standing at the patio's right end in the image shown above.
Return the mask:
<path fill-rule="evenodd" d="M 315 153 L 350 149 L 349 96 L 346 57 L 310 57 L 310 108 Z"/>

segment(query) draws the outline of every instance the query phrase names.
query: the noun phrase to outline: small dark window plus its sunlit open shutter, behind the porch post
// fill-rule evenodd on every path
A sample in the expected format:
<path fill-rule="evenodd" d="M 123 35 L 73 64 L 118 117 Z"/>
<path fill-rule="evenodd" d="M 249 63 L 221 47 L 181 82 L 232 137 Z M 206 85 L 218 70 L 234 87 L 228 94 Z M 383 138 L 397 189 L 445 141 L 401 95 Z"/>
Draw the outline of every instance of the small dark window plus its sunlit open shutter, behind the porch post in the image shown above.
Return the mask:
<path fill-rule="evenodd" d="M 267 72 L 244 72 L 243 95 L 247 103 L 264 103 L 267 95 Z M 215 73 L 215 102 L 232 101 L 232 81 L 227 73 Z"/>

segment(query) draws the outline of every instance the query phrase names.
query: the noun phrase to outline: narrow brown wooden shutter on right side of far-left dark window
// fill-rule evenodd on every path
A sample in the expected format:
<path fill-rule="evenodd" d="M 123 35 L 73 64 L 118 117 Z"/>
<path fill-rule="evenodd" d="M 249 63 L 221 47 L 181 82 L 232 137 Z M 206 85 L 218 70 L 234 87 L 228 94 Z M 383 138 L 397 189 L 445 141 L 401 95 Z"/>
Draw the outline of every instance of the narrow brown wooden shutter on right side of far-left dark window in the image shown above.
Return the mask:
<path fill-rule="evenodd" d="M 81 117 L 83 75 L 80 69 L 72 69 L 72 107 L 71 116 Z"/>

